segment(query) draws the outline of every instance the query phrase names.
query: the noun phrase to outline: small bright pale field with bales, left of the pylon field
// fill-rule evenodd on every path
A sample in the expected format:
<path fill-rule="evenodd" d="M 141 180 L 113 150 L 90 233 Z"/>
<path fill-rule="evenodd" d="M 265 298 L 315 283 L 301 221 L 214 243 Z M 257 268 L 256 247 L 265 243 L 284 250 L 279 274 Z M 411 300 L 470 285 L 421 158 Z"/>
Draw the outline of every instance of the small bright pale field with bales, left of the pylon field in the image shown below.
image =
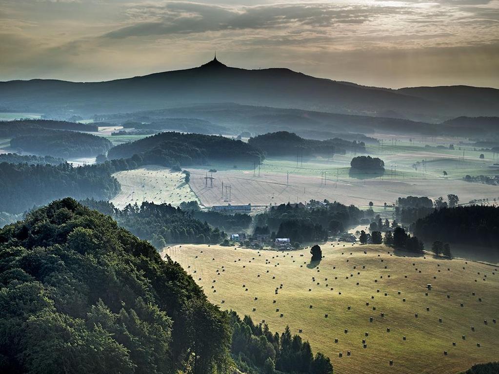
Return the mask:
<path fill-rule="evenodd" d="M 184 174 L 171 172 L 161 166 L 144 166 L 135 170 L 120 171 L 113 176 L 121 184 L 121 192 L 110 200 L 117 208 L 135 203 L 140 206 L 144 201 L 170 203 L 173 206 L 178 206 L 183 201 L 199 201 L 185 183 Z"/>

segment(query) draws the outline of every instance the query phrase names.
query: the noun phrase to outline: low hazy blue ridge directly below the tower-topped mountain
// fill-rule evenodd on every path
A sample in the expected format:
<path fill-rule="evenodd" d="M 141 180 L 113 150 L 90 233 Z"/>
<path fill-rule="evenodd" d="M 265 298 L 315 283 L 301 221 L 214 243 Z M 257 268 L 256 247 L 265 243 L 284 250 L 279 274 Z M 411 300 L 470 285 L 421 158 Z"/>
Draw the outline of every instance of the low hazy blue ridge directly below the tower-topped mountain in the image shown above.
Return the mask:
<path fill-rule="evenodd" d="M 440 126 L 410 121 L 406 119 L 344 115 L 336 113 L 313 112 L 301 109 L 256 107 L 234 103 L 199 104 L 189 107 L 168 108 L 155 111 L 141 111 L 126 114 L 95 116 L 96 121 L 122 125 L 125 121 L 146 124 L 168 122 L 186 117 L 209 121 L 222 125 L 232 134 L 250 131 L 253 135 L 269 131 L 289 131 L 308 139 L 329 139 L 344 136 L 345 132 L 357 133 L 414 133 L 438 134 Z M 147 126 L 147 125 L 144 125 Z M 166 128 L 166 127 L 165 127 Z M 214 130 L 211 133 L 218 133 Z M 339 136 L 338 133 L 342 133 Z M 350 140 L 365 140 L 358 136 Z"/>

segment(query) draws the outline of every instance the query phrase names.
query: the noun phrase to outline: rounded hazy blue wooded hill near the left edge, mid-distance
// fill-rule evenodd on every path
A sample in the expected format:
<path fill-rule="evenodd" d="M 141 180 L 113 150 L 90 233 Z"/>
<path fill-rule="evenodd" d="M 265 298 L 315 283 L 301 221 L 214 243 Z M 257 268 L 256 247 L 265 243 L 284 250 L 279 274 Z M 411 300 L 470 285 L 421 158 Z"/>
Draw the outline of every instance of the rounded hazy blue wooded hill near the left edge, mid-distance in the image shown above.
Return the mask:
<path fill-rule="evenodd" d="M 75 131 L 48 131 L 20 135 L 10 140 L 10 147 L 56 157 L 86 157 L 106 153 L 112 144 L 104 137 Z"/>

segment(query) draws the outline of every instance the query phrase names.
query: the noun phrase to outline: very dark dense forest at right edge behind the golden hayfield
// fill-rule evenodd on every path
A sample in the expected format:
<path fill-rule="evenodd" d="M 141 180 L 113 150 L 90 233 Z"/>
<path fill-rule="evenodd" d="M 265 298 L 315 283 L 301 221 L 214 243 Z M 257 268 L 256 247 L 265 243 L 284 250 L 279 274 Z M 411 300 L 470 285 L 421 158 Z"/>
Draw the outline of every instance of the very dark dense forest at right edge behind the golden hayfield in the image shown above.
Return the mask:
<path fill-rule="evenodd" d="M 499 208 L 472 205 L 442 208 L 416 221 L 415 235 L 433 242 L 468 244 L 498 249 Z"/>

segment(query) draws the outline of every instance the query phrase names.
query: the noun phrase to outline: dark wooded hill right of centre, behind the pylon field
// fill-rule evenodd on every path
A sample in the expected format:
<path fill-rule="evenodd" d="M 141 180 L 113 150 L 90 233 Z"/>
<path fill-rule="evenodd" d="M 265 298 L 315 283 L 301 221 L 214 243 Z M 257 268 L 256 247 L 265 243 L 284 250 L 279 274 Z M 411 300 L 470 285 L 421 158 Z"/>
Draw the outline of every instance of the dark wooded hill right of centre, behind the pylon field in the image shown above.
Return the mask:
<path fill-rule="evenodd" d="M 313 156 L 345 154 L 347 150 L 365 152 L 363 141 L 348 141 L 340 138 L 328 140 L 304 139 L 293 132 L 278 131 L 252 137 L 248 143 L 261 149 L 268 156 Z"/>

